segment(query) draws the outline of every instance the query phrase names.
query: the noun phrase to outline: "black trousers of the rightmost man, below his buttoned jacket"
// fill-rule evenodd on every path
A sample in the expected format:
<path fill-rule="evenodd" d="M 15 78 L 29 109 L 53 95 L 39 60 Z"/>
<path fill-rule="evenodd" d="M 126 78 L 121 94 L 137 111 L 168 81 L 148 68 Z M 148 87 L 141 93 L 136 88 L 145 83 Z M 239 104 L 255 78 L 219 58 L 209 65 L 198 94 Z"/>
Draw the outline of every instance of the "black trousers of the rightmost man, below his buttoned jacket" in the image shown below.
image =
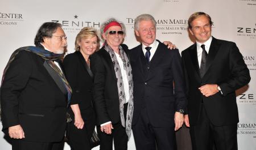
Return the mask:
<path fill-rule="evenodd" d="M 214 126 L 201 104 L 197 125 L 190 127 L 192 147 L 195 150 L 237 150 L 237 124 Z"/>

